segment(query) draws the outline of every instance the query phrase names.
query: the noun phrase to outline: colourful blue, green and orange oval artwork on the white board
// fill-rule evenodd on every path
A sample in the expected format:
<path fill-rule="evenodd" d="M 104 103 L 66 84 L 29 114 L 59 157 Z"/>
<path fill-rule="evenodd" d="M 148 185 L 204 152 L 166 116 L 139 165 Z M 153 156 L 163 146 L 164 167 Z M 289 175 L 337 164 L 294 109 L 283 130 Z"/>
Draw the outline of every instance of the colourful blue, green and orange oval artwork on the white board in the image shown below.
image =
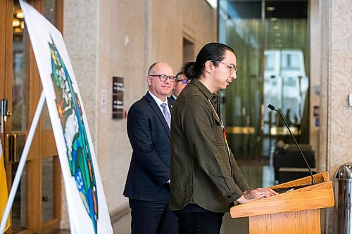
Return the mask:
<path fill-rule="evenodd" d="M 82 108 L 65 63 L 51 37 L 51 79 L 56 93 L 56 107 L 61 119 L 65 138 L 68 164 L 71 176 L 74 176 L 77 189 L 97 233 L 98 197 L 96 179 L 92 167 L 92 154 L 89 148 L 87 132 L 82 119 Z"/>

